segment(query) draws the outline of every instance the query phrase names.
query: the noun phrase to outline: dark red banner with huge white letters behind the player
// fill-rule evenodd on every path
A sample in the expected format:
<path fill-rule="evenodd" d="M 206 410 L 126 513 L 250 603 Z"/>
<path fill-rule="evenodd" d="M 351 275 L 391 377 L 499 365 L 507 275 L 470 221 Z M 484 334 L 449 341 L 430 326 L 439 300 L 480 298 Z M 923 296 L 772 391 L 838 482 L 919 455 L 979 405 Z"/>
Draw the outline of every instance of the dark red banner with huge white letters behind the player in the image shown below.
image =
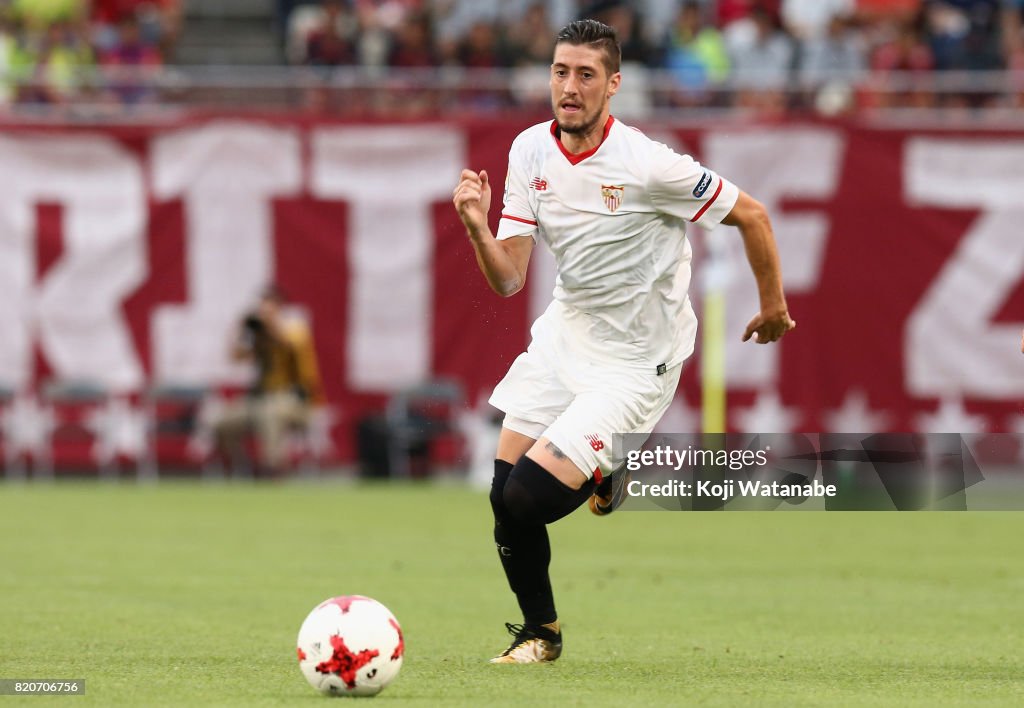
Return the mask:
<path fill-rule="evenodd" d="M 0 134 L 0 384 L 244 383 L 228 342 L 279 283 L 312 324 L 352 429 L 386 397 L 451 377 L 471 403 L 527 343 L 554 266 L 502 299 L 451 206 L 463 167 L 500 183 L 524 122 L 208 118 Z M 799 328 L 740 342 L 756 290 L 734 230 L 731 429 L 1024 431 L 1024 131 L 853 123 L 640 126 L 764 202 Z M 495 195 L 492 219 L 501 199 Z M 666 426 L 695 429 L 697 360 Z"/>

